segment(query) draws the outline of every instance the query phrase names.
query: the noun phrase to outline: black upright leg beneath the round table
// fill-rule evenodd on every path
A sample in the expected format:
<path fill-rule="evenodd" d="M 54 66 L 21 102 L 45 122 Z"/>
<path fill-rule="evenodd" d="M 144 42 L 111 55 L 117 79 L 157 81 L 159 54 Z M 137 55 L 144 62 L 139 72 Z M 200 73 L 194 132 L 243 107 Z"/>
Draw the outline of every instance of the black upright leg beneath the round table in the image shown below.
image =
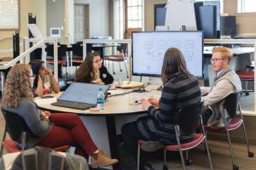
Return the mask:
<path fill-rule="evenodd" d="M 108 140 L 109 140 L 111 157 L 119 159 L 120 158 L 119 145 L 118 145 L 118 139 L 116 134 L 114 116 L 106 116 L 106 122 L 107 122 Z M 122 166 L 119 159 L 119 162 L 113 165 L 113 170 L 121 170 L 121 169 L 122 169 Z"/>

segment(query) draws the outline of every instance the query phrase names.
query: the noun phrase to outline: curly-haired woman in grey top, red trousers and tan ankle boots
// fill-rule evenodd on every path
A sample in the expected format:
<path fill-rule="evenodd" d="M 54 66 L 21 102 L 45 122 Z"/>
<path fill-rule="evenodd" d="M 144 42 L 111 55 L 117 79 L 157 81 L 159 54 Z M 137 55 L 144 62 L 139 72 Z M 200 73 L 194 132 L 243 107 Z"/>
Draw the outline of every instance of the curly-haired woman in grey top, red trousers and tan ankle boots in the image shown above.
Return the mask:
<path fill-rule="evenodd" d="M 38 110 L 33 102 L 34 78 L 30 65 L 17 64 L 9 71 L 4 86 L 3 109 L 21 116 L 30 129 L 30 132 L 26 132 L 25 148 L 35 145 L 55 148 L 67 144 L 76 147 L 76 154 L 85 158 L 91 156 L 92 167 L 118 162 L 97 148 L 78 115 L 51 115 L 49 111 Z"/>

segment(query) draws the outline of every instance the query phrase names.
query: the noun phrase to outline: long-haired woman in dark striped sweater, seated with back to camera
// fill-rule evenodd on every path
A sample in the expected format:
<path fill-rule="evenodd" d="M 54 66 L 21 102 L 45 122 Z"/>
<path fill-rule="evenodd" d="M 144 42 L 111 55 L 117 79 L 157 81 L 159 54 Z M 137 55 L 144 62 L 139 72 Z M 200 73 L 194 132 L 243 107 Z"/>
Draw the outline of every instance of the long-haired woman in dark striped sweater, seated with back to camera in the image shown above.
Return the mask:
<path fill-rule="evenodd" d="M 155 140 L 161 144 L 176 142 L 175 125 L 178 123 L 178 111 L 188 105 L 201 101 L 201 90 L 196 78 L 189 73 L 182 52 L 177 48 L 166 51 L 161 71 L 164 84 L 160 99 L 143 100 L 143 109 L 148 116 L 140 117 L 136 122 L 126 123 L 122 127 L 125 147 L 131 156 L 137 158 L 137 139 Z M 181 133 L 181 141 L 193 139 Z M 144 161 L 140 169 L 154 169 Z"/>

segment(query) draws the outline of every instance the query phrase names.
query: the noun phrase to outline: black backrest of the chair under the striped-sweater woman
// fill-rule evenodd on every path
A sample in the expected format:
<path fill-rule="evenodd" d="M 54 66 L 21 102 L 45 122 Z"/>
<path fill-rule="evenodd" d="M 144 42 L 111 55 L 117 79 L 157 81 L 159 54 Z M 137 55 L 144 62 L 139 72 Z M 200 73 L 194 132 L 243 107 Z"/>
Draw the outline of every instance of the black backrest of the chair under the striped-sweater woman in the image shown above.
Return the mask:
<path fill-rule="evenodd" d="M 203 102 L 199 102 L 180 109 L 178 125 L 182 130 L 183 135 L 190 135 L 195 133 L 195 130 L 200 125 L 199 114 L 201 113 L 202 104 Z"/>

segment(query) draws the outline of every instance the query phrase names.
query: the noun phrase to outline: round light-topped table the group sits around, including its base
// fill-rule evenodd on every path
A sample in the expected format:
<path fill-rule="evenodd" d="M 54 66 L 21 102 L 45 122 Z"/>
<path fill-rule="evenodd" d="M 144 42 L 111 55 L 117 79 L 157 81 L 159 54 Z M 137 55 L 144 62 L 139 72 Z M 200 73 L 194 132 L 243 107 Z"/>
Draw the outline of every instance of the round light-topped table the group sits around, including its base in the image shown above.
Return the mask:
<path fill-rule="evenodd" d="M 159 85 L 149 85 L 146 90 L 158 87 Z M 96 145 L 104 150 L 107 155 L 119 159 L 117 134 L 120 133 L 120 127 L 125 122 L 135 121 L 139 116 L 147 113 L 142 109 L 142 105 L 131 105 L 131 103 L 135 99 L 144 99 L 150 96 L 160 97 L 160 91 L 152 90 L 144 93 L 130 93 L 109 97 L 104 111 L 81 111 L 50 105 L 60 95 L 61 93 L 55 94 L 55 98 L 51 99 L 36 98 L 35 102 L 42 110 L 79 114 Z M 121 170 L 122 167 L 120 163 L 117 163 L 113 165 L 113 169 Z"/>

